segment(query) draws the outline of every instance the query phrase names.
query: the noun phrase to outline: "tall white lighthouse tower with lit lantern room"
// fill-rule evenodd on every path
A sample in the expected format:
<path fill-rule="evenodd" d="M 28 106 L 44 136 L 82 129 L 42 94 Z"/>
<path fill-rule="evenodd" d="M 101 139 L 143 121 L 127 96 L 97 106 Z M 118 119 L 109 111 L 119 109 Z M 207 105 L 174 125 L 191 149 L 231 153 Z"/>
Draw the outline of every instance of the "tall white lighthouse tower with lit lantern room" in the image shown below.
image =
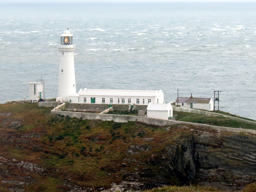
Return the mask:
<path fill-rule="evenodd" d="M 60 68 L 59 68 L 59 85 L 58 98 L 56 100 L 70 101 L 76 97 L 76 77 L 74 66 L 74 50 L 73 35 L 68 29 L 60 36 Z M 77 102 L 77 101 L 72 101 Z"/>

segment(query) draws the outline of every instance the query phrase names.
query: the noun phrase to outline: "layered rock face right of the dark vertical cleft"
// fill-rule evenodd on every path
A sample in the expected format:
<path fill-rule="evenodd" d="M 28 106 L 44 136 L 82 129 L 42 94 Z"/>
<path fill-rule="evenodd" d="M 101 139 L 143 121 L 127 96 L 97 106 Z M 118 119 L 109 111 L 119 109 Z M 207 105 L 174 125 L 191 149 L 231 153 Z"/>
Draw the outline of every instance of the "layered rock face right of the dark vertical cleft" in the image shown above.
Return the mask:
<path fill-rule="evenodd" d="M 240 190 L 256 181 L 256 138 L 234 134 L 194 136 L 199 184 Z"/>

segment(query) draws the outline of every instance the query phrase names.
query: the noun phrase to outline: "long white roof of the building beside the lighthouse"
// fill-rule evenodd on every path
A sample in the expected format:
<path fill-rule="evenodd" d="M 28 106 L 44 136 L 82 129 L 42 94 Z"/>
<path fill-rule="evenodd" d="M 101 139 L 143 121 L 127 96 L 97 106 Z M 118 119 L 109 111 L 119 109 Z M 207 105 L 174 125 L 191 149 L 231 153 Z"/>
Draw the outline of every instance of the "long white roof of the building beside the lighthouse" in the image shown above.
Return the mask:
<path fill-rule="evenodd" d="M 142 96 L 153 97 L 159 95 L 158 90 L 108 90 L 108 89 L 80 89 L 79 95 L 92 95 L 92 96 Z"/>

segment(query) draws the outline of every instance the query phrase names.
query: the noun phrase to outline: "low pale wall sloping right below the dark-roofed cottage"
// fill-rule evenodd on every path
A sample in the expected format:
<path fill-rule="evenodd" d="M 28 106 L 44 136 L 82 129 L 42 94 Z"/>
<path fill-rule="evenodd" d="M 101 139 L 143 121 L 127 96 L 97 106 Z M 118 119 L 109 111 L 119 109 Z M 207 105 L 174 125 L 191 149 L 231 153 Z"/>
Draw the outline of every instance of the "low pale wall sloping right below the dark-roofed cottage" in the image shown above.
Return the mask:
<path fill-rule="evenodd" d="M 202 111 L 202 110 L 196 110 L 196 109 L 180 108 L 180 107 L 174 107 L 174 106 L 172 106 L 172 108 L 174 111 L 178 111 L 178 112 L 195 113 L 195 114 L 208 115 L 208 116 L 222 116 L 222 117 L 230 118 L 230 119 L 240 121 L 240 122 L 256 124 L 256 122 L 254 122 L 254 121 L 240 119 L 237 117 L 228 116 L 228 115 L 224 115 L 224 114 L 220 114 L 220 113 L 214 113 L 214 112 Z"/>

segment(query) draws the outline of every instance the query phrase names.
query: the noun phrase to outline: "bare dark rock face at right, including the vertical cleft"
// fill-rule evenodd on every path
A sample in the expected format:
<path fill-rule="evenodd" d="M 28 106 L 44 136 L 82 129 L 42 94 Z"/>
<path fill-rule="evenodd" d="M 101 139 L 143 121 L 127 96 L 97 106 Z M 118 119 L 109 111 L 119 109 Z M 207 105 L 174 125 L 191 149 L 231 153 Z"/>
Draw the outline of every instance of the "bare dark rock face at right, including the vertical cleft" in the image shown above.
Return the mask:
<path fill-rule="evenodd" d="M 233 134 L 192 134 L 167 146 L 161 156 L 147 164 L 155 166 L 124 175 L 124 180 L 142 182 L 152 188 L 164 184 L 210 185 L 222 190 L 241 190 L 256 181 L 256 137 Z M 137 154 L 140 146 L 131 146 L 128 154 Z M 160 169 L 157 169 L 159 167 Z"/>

